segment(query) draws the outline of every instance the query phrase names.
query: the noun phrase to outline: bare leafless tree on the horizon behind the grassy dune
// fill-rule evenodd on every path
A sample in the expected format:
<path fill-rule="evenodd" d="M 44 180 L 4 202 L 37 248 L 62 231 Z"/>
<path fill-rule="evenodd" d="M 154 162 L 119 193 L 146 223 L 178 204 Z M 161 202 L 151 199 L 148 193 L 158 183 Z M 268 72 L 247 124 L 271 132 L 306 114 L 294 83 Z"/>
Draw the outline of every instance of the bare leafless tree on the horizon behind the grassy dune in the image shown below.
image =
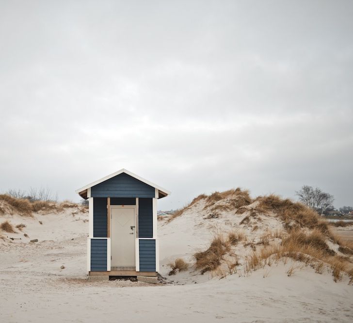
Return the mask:
<path fill-rule="evenodd" d="M 335 200 L 333 195 L 322 192 L 318 187 L 314 189 L 308 185 L 304 185 L 299 191 L 295 191 L 295 194 L 298 195 L 299 201 L 310 209 L 321 212 L 321 215 L 326 209 L 332 207 Z"/>

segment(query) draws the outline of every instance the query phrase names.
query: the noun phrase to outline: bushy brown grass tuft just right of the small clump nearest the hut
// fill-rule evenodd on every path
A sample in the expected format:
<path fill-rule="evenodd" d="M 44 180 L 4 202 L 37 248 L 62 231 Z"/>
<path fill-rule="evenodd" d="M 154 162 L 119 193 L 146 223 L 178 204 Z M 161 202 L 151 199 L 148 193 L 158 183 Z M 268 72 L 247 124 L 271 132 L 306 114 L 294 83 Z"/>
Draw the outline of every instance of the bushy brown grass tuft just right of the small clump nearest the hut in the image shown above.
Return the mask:
<path fill-rule="evenodd" d="M 196 252 L 193 258 L 196 260 L 196 269 L 201 269 L 201 274 L 216 270 L 229 251 L 229 242 L 222 235 L 214 237 L 209 248 Z"/>

